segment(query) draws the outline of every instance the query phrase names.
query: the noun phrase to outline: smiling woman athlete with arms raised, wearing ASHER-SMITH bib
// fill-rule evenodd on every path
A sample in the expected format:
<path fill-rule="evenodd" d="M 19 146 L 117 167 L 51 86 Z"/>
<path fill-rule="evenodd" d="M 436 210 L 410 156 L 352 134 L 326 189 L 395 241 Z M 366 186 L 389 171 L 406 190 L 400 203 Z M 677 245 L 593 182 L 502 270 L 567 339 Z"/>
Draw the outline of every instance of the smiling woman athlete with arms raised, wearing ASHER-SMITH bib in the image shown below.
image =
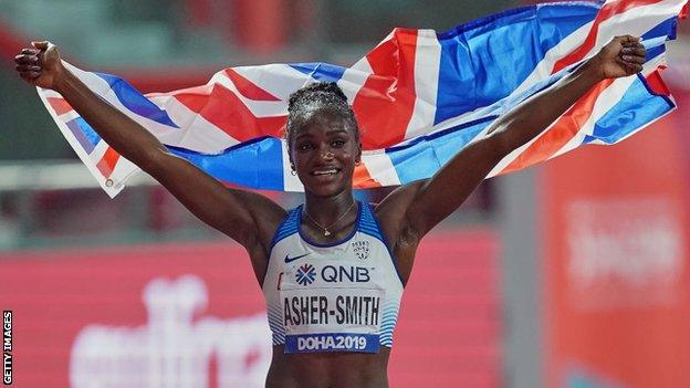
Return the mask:
<path fill-rule="evenodd" d="M 362 156 L 357 122 L 335 84 L 290 98 L 286 137 L 305 203 L 286 211 L 226 188 L 94 95 L 58 49 L 34 42 L 15 56 L 28 83 L 52 88 L 121 155 L 157 179 L 203 222 L 242 244 L 266 298 L 273 332 L 268 387 L 385 387 L 400 296 L 421 238 L 453 212 L 509 153 L 540 134 L 605 78 L 641 70 L 637 38 L 618 36 L 558 83 L 495 120 L 489 135 L 430 179 L 377 206 L 354 200 Z"/>

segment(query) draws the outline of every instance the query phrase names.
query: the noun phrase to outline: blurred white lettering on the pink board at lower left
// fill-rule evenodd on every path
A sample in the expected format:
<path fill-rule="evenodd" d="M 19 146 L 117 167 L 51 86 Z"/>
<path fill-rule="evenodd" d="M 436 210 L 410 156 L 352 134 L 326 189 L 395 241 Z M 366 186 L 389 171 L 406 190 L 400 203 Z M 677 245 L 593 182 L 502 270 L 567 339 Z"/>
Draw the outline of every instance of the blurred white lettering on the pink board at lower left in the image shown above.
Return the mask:
<path fill-rule="evenodd" d="M 205 283 L 155 279 L 144 290 L 142 326 L 88 325 L 70 356 L 73 388 L 263 387 L 271 361 L 264 314 L 202 316 Z"/>

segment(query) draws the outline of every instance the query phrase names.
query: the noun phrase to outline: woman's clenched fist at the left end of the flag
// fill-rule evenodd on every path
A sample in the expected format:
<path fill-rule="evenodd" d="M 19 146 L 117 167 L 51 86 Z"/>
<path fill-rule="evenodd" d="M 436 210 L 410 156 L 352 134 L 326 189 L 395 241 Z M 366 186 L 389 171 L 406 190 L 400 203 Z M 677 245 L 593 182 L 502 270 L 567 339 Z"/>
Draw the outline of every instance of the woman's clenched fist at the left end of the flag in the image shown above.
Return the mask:
<path fill-rule="evenodd" d="M 14 69 L 30 84 L 56 90 L 65 73 L 58 48 L 50 42 L 31 42 L 31 45 L 14 56 Z"/>

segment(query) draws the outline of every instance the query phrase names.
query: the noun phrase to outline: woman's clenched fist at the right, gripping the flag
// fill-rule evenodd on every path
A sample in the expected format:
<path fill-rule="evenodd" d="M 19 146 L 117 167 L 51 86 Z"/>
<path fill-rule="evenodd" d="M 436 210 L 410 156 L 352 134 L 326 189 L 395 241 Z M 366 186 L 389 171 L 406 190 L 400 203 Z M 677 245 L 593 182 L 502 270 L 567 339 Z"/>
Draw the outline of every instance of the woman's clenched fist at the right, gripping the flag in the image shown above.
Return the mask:
<path fill-rule="evenodd" d="M 614 38 L 592 60 L 603 78 L 618 78 L 640 72 L 646 55 L 639 38 L 623 35 Z"/>

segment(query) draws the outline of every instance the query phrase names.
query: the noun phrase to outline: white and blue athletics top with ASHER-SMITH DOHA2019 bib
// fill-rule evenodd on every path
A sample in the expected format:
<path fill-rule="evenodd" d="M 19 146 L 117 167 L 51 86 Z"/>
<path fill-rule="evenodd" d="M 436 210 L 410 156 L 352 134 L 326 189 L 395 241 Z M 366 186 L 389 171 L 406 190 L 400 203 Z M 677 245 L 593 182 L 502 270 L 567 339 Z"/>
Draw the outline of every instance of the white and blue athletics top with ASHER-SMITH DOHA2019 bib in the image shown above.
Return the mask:
<path fill-rule="evenodd" d="M 262 290 L 273 345 L 285 353 L 378 353 L 393 345 L 402 282 L 372 207 L 346 239 L 305 237 L 302 206 L 278 228 Z"/>

